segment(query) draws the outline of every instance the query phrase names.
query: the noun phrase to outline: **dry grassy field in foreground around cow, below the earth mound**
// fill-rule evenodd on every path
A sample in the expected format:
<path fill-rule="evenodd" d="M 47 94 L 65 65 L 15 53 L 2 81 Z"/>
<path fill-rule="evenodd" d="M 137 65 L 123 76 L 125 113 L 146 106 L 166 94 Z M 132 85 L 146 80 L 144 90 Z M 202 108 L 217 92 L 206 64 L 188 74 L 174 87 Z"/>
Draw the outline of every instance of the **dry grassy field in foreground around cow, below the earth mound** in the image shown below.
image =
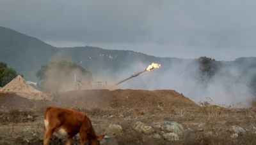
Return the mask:
<path fill-rule="evenodd" d="M 6 97 L 10 99 L 10 97 Z M 13 97 L 13 100 L 15 97 Z M 16 99 L 17 100 L 17 99 Z M 1 101 L 1 98 L 0 98 Z M 125 100 L 127 101 L 127 100 Z M 47 103 L 33 102 L 19 99 L 17 106 L 10 106 L 5 102 L 0 111 L 0 144 L 42 144 L 44 134 L 44 107 Z M 159 101 L 161 102 L 161 101 Z M 110 124 L 118 124 L 123 128 L 122 134 L 111 136 L 104 144 L 255 144 L 256 109 L 236 109 L 233 107 L 219 107 L 211 103 L 211 99 L 200 102 L 198 106 L 131 106 L 115 108 L 86 108 L 70 106 L 83 111 L 91 118 L 97 134 L 103 134 Z M 125 102 L 124 102 L 125 103 Z M 136 103 L 136 102 L 134 102 Z M 137 102 L 140 103 L 140 102 Z M 63 105 L 63 104 L 61 104 Z M 64 104 L 65 105 L 65 104 Z M 31 109 L 28 106 L 35 106 Z M 83 104 L 83 106 L 85 106 Z M 31 118 L 32 116 L 32 118 Z M 148 125 L 157 122 L 175 121 L 184 128 L 179 135 L 180 141 L 154 139 L 152 135 L 136 132 L 132 127 L 136 121 Z M 237 138 L 230 137 L 234 132 L 232 125 L 243 127 L 246 134 Z M 15 131 L 13 131 L 15 130 Z M 156 130 L 157 132 L 157 130 Z M 209 133 L 210 132 L 210 133 Z M 51 144 L 63 144 L 65 141 L 54 136 Z M 78 144 L 77 139 L 74 144 Z"/>

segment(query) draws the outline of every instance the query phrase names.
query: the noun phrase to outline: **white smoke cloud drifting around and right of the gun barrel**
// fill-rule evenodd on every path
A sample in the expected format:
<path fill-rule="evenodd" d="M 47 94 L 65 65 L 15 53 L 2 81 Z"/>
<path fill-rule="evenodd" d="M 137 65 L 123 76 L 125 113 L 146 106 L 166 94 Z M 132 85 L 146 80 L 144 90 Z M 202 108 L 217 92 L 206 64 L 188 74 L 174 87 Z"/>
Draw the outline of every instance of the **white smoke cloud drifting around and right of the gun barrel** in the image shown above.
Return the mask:
<path fill-rule="evenodd" d="M 196 78 L 195 75 L 199 75 L 196 74 L 199 72 L 195 72 L 195 70 L 198 71 L 198 64 L 191 64 L 192 61 L 175 62 L 170 66 L 162 66 L 160 69 L 144 72 L 116 87 L 149 90 L 171 89 L 183 93 L 195 102 L 211 99 L 212 104 L 220 106 L 248 107 L 251 105 L 253 95 L 248 86 L 250 79 L 242 79 L 251 76 L 242 76 L 243 73 L 239 67 L 224 65 L 205 85 Z M 123 71 L 116 72 L 115 78 L 106 73 L 101 79 L 108 78 L 109 82 L 118 82 L 128 78 L 134 72 L 141 71 L 147 65 L 142 62 L 137 63 L 126 67 Z M 189 67 L 195 70 L 186 69 L 188 65 L 194 65 Z"/>

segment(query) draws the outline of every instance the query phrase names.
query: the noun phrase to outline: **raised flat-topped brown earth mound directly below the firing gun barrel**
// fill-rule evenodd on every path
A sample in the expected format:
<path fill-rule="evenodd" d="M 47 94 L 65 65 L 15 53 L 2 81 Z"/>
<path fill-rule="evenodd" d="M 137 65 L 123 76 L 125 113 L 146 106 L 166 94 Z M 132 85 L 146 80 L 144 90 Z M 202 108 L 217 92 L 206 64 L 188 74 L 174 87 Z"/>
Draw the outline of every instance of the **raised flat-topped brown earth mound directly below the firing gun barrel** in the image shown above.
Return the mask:
<path fill-rule="evenodd" d="M 175 90 L 76 90 L 60 92 L 56 100 L 82 108 L 197 106 Z"/>

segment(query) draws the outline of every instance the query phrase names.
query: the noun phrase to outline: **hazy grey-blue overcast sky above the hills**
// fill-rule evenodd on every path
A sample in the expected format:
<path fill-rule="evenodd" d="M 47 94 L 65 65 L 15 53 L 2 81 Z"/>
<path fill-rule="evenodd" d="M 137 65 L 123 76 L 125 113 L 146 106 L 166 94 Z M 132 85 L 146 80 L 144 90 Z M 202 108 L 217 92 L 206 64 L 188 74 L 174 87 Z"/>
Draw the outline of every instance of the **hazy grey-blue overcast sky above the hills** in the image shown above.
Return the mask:
<path fill-rule="evenodd" d="M 256 1 L 0 0 L 0 25 L 54 46 L 256 57 Z"/>

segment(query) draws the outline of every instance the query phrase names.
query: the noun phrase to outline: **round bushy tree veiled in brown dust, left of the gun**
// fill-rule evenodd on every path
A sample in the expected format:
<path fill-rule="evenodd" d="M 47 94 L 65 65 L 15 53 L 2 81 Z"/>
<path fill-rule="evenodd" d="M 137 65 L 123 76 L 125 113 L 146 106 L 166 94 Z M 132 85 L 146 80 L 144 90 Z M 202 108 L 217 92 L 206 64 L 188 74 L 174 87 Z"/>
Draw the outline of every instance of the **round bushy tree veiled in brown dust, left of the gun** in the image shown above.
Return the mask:
<path fill-rule="evenodd" d="M 72 90 L 79 85 L 90 85 L 92 73 L 72 62 L 50 62 L 36 72 L 40 86 L 47 91 Z"/>

